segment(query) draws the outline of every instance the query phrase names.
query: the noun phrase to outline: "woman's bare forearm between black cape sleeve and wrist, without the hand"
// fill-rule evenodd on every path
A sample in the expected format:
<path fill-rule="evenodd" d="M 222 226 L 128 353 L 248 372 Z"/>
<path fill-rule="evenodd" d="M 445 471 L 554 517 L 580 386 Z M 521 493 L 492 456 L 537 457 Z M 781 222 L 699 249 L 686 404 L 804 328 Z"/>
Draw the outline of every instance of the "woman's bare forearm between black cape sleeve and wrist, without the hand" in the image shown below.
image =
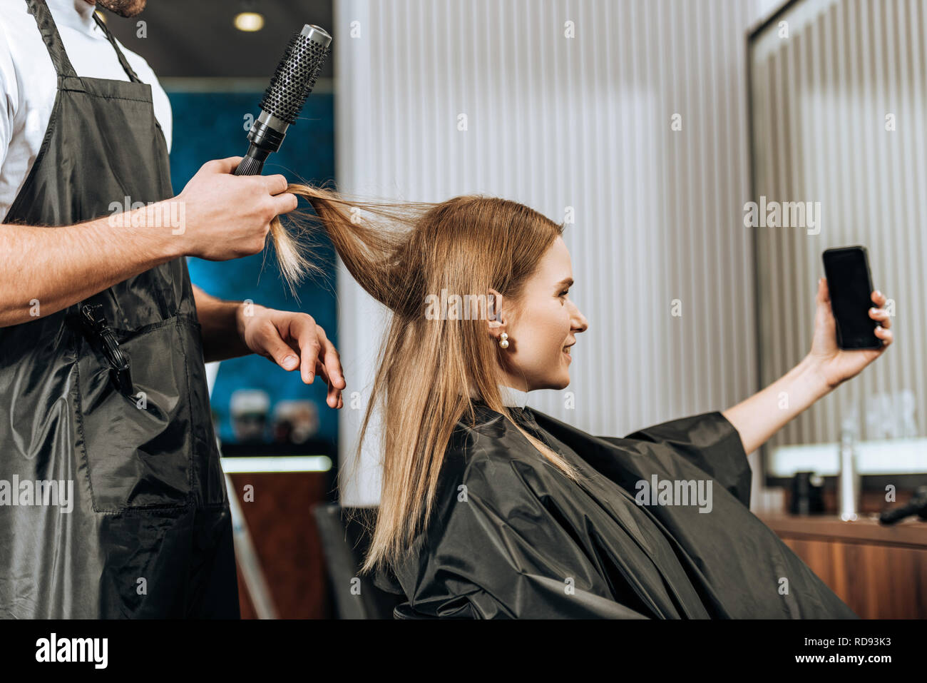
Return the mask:
<path fill-rule="evenodd" d="M 743 450 L 752 453 L 830 392 L 827 382 L 806 357 L 779 380 L 721 414 L 740 432 Z"/>

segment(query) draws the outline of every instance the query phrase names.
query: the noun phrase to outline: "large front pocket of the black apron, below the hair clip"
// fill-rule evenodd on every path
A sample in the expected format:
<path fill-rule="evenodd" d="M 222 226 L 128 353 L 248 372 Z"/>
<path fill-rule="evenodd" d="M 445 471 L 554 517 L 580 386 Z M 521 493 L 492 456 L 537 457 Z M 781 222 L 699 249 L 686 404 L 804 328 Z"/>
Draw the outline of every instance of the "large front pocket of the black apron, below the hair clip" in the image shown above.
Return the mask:
<path fill-rule="evenodd" d="M 83 341 L 78 424 L 97 512 L 183 508 L 192 502 L 193 430 L 185 317 L 118 335 L 133 394 L 120 393 L 102 354 Z"/>

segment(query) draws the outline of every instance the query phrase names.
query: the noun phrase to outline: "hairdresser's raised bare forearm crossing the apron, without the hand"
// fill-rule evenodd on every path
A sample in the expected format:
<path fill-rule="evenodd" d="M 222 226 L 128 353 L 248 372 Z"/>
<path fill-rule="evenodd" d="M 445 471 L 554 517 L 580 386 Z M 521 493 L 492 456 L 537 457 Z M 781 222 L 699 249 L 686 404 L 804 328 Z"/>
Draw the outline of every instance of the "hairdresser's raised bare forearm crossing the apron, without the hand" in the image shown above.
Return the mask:
<path fill-rule="evenodd" d="M 148 220 L 168 201 L 123 213 L 121 221 L 0 226 L 0 327 L 49 316 L 180 256 L 181 237 Z"/>

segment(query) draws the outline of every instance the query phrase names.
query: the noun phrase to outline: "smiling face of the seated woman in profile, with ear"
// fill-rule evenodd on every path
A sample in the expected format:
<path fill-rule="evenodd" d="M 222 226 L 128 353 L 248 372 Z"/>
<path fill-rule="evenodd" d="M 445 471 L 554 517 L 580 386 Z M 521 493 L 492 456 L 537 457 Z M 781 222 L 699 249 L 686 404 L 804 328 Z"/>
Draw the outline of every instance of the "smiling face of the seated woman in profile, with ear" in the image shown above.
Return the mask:
<path fill-rule="evenodd" d="M 502 350 L 503 383 L 523 391 L 564 389 L 570 383 L 570 347 L 577 342 L 577 333 L 589 328 L 586 317 L 569 299 L 572 284 L 570 252 L 558 237 L 514 306 L 502 299 L 502 325 L 489 323 L 490 334 L 497 340 L 502 332 L 508 334 L 509 346 Z"/>

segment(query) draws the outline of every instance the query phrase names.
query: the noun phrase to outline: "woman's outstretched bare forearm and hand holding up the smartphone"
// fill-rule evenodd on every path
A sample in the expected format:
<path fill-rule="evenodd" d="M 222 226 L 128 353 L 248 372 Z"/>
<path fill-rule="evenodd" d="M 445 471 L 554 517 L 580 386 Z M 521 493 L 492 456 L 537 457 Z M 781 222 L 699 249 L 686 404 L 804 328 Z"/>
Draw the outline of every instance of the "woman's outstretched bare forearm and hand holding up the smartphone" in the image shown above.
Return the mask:
<path fill-rule="evenodd" d="M 740 433 L 746 453 L 752 453 L 765 444 L 786 422 L 844 381 L 856 377 L 884 353 L 893 340 L 889 329 L 892 321 L 882 308 L 885 304 L 882 292 L 873 291 L 872 302 L 876 307 L 870 308 L 870 317 L 880 323 L 875 334 L 883 341 L 883 347 L 857 351 L 840 349 L 827 280 L 819 279 L 815 333 L 810 353 L 779 380 L 721 413 Z"/>

